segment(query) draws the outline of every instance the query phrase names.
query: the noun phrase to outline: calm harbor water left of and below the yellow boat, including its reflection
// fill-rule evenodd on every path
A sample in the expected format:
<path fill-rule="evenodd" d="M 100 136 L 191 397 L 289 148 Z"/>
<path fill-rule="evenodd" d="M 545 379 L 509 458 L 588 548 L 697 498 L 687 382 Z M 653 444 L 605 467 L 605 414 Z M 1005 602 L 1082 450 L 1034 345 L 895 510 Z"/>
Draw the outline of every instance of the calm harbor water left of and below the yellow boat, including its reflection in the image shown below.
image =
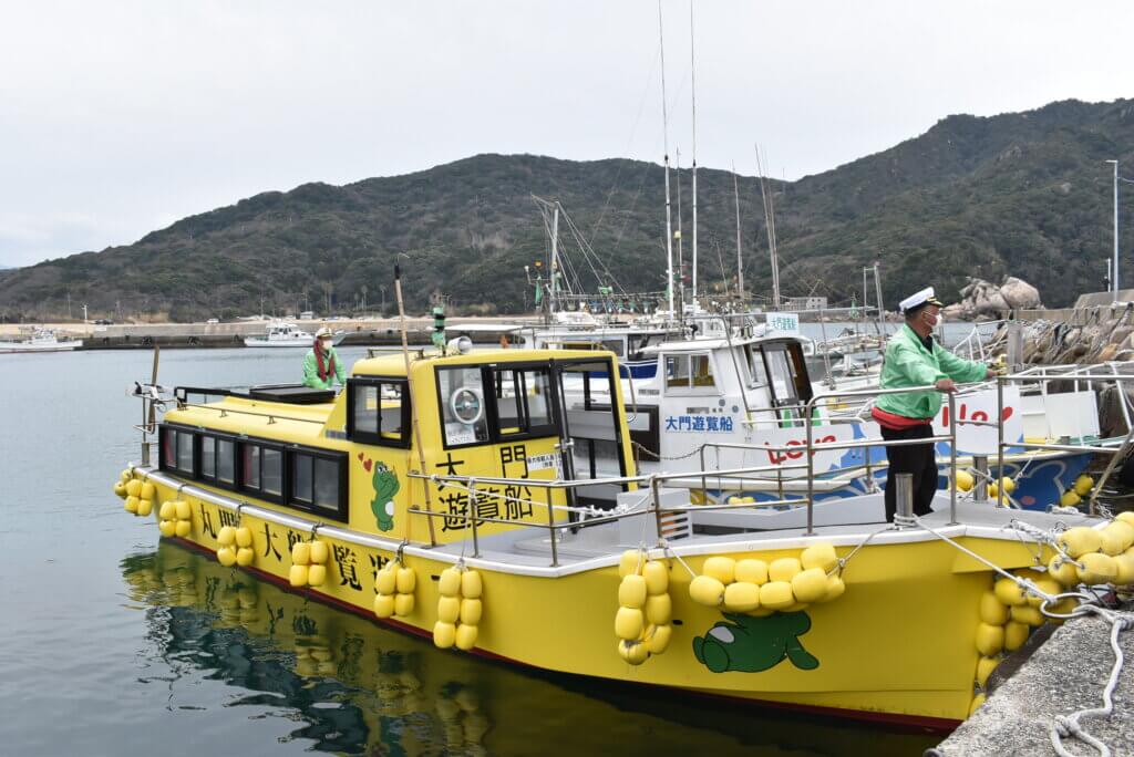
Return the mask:
<path fill-rule="evenodd" d="M 138 459 L 126 391 L 151 358 L 0 356 L 0 754 L 914 755 L 940 738 L 440 652 L 162 544 L 111 492 Z M 301 360 L 168 350 L 160 380 L 289 382 Z"/>

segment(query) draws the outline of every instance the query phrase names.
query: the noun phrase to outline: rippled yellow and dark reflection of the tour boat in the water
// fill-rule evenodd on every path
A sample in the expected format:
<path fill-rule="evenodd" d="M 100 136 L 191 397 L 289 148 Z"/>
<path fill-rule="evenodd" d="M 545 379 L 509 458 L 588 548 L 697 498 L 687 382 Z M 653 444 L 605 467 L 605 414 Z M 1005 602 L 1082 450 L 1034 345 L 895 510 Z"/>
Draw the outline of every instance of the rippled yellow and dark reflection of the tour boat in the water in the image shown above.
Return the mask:
<path fill-rule="evenodd" d="M 679 691 L 518 672 L 440 652 L 172 544 L 127 558 L 121 569 L 129 598 L 145 611 L 152 653 L 174 683 L 192 673 L 236 687 L 243 692 L 226 707 L 295 722 L 285 740 L 318 751 L 898 755 L 938 740 Z M 149 682 L 169 684 L 164 675 Z"/>

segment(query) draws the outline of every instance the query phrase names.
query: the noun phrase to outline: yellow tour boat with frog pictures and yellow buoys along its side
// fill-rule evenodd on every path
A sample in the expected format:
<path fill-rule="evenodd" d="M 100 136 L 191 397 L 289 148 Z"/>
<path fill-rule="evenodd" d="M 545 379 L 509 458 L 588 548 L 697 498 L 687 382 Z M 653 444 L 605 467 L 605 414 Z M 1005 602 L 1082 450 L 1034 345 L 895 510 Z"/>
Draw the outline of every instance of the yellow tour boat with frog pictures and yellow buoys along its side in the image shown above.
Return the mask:
<path fill-rule="evenodd" d="M 1074 587 L 1134 580 L 1127 513 L 693 503 L 636 475 L 618 375 L 463 346 L 362 359 L 337 395 L 138 385 L 156 460 L 144 436 L 115 491 L 226 570 L 452 654 L 940 729 Z"/>

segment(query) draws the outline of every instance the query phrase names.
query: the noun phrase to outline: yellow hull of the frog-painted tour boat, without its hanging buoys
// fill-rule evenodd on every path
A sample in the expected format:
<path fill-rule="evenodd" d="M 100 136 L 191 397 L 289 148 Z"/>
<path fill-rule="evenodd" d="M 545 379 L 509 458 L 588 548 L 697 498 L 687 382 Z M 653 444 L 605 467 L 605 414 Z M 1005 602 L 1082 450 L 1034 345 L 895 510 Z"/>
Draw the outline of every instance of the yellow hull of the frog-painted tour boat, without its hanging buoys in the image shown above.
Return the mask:
<path fill-rule="evenodd" d="M 159 501 L 178 495 L 170 479 L 161 475 L 149 479 L 158 485 Z M 237 503 L 221 507 L 219 494 L 198 497 L 183 491 L 180 496 L 192 507 L 192 528 L 184 542 L 214 553 L 220 527 L 237 522 Z M 239 517 L 253 534 L 255 558 L 248 569 L 285 582 L 289 546 L 310 537 L 310 524 L 290 512 L 261 517 L 256 513 L 272 512 L 271 508 L 252 510 L 244 508 Z M 330 527 L 320 528 L 319 538 L 330 545 L 327 580 L 302 590 L 372 615 L 375 572 L 396 558 L 398 544 Z M 815 541 L 780 541 L 759 552 L 746 551 L 743 545 L 753 543 L 744 542 L 712 554 L 771 560 L 798 555 L 802 546 Z M 1033 564 L 1019 542 L 967 541 L 1002 567 Z M 837 548 L 846 555 L 852 547 Z M 416 575 L 414 610 L 382 622 L 430 636 L 438 620 L 435 579 L 460 556 L 451 547 L 407 547 L 404 562 Z M 700 571 L 706 556 L 685 560 Z M 484 556 L 465 558 L 484 585 L 479 654 L 564 673 L 942 728 L 967 715 L 979 656 L 974 646 L 979 601 L 992 581 L 982 565 L 958 560 L 943 542 L 875 542 L 847 567 L 847 592 L 838 599 L 746 620 L 694 603 L 691 576 L 677 561 L 667 561 L 672 640 L 663 654 L 634 667 L 619 657 L 613 630 L 620 581 L 617 553 L 569 569 L 531 562 L 517 569 Z M 777 626 L 788 622 L 788 636 L 795 641 Z"/>

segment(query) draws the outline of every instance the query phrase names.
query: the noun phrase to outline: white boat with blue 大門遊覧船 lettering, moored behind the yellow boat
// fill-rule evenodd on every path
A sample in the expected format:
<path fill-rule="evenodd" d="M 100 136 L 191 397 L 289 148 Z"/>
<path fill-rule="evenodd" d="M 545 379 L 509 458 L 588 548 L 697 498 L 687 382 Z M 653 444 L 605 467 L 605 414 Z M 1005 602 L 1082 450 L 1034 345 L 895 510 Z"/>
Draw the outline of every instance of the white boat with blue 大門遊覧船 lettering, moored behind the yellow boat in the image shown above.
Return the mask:
<path fill-rule="evenodd" d="M 648 378 L 623 376 L 623 399 L 627 423 L 635 443 L 638 469 L 643 474 L 683 474 L 688 478 L 670 479 L 670 486 L 701 490 L 712 501 L 730 496 L 755 501 L 793 499 L 806 495 L 824 500 L 847 497 L 875 491 L 886 478 L 886 454 L 874 446 L 869 459 L 862 449 L 822 450 L 809 467 L 801 451 L 810 439 L 821 444 L 844 444 L 878 437 L 880 432 L 869 418 L 861 398 L 846 392 L 872 389 L 854 380 L 840 378 L 837 389 L 812 384 L 805 359 L 806 342 L 798 335 L 703 338 L 684 342 L 667 341 L 643 350 L 655 362 Z M 598 374 L 592 374 L 592 378 Z M 869 378 L 869 376 L 868 376 Z M 966 389 L 957 395 L 958 459 L 973 465 L 974 456 L 996 454 L 997 439 L 988 429 L 971 423 L 996 414 L 997 392 L 990 384 Z M 568 409 L 584 408 L 585 383 L 564 383 Z M 840 397 L 839 393 L 844 394 Z M 608 395 L 591 390 L 592 402 L 609 402 Z M 828 400 L 812 402 L 812 398 Z M 1004 395 L 1008 440 L 1022 443 L 1005 454 L 1002 475 L 1017 490 L 1016 507 L 1047 509 L 1059 503 L 1083 473 L 1091 454 L 1082 451 L 1026 450 L 1025 442 L 1051 442 L 1060 437 L 1097 442 L 1100 436 L 1095 397 L 1091 390 L 1065 393 L 1038 392 L 1034 386 L 1013 385 Z M 805 411 L 805 407 L 812 407 Z M 805 416 L 807 420 L 805 420 Z M 972 419 L 972 422 L 970 420 Z M 949 433 L 947 407 L 934 420 L 939 435 Z M 984 424 L 987 425 L 987 424 Z M 1120 440 L 1107 440 L 1114 444 Z M 1076 443 L 1078 443 L 1076 441 Z M 991 448 L 990 448 L 991 445 Z M 947 457 L 946 444 L 938 445 Z M 609 445 L 590 443 L 574 450 L 575 466 L 617 473 L 617 459 Z M 778 475 L 762 478 L 703 476 L 710 470 L 729 470 L 754 465 L 776 466 Z M 813 474 L 811 487 L 806 473 Z M 942 471 L 946 475 L 946 471 Z"/>

